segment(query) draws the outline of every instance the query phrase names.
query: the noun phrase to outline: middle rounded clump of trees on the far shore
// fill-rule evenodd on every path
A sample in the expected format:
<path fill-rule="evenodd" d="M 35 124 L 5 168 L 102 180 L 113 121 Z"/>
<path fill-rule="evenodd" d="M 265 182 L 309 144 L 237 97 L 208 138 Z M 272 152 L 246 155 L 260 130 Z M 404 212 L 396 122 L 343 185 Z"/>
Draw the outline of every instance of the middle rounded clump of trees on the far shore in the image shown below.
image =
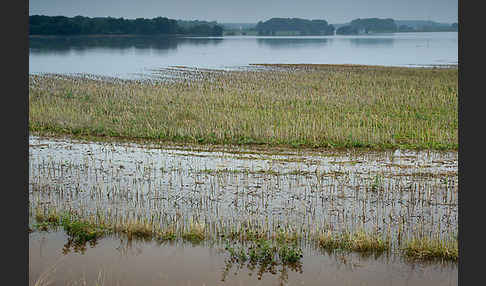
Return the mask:
<path fill-rule="evenodd" d="M 299 35 L 333 35 L 334 26 L 326 20 L 300 18 L 272 18 L 258 22 L 255 29 L 259 35 L 277 35 L 278 32 L 297 32 Z"/>

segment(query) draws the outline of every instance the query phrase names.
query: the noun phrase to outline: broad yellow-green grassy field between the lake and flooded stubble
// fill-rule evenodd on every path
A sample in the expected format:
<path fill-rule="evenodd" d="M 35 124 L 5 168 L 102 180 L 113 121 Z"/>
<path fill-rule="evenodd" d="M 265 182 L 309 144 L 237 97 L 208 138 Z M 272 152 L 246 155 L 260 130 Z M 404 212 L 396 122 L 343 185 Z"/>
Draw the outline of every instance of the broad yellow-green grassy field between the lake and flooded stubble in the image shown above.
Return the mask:
<path fill-rule="evenodd" d="M 280 65 L 159 84 L 31 75 L 29 129 L 202 144 L 457 150 L 457 72 Z"/>

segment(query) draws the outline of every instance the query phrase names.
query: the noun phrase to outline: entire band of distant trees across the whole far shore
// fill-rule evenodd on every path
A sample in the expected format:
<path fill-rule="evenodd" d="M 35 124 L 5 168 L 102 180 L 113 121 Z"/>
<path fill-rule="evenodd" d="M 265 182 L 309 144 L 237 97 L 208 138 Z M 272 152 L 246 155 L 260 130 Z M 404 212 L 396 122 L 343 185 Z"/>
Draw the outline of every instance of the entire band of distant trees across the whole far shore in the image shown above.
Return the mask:
<path fill-rule="evenodd" d="M 223 28 L 224 27 L 224 28 Z M 337 27 L 337 29 L 336 29 Z M 30 35 L 359 35 L 394 32 L 458 31 L 458 24 L 442 24 L 433 21 L 401 21 L 393 19 L 355 19 L 334 27 L 326 20 L 300 18 L 271 18 L 255 24 L 218 24 L 215 21 L 174 20 L 165 17 L 153 19 L 124 19 L 113 17 L 65 17 L 29 16 Z"/>

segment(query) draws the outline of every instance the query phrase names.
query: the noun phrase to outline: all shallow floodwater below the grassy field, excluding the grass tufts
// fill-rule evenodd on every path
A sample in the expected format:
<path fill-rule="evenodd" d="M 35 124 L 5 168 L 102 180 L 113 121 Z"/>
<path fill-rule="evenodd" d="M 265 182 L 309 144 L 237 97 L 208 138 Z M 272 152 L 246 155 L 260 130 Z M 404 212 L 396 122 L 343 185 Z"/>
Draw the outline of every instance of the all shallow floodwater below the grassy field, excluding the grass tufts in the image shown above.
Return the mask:
<path fill-rule="evenodd" d="M 41 278 L 50 285 L 457 285 L 457 263 L 407 260 L 397 239 L 457 235 L 457 152 L 256 151 L 36 136 L 29 145 L 31 226 L 36 210 L 76 210 L 181 233 L 196 222 L 216 238 L 193 245 L 109 236 L 77 249 L 63 231 L 34 231 L 31 285 Z M 258 266 L 230 265 L 217 237 L 249 225 L 301 233 L 302 264 L 266 269 L 261 279 Z M 356 229 L 389 234 L 392 250 L 330 253 L 312 241 L 319 230 Z"/>

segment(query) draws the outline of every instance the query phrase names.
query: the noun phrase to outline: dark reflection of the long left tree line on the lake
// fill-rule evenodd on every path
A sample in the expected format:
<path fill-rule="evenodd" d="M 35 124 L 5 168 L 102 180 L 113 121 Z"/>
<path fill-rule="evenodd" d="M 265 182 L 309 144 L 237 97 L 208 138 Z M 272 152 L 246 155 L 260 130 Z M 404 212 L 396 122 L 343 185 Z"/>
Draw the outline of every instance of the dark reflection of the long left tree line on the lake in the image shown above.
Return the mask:
<path fill-rule="evenodd" d="M 140 50 L 169 51 L 175 50 L 179 45 L 218 45 L 221 38 L 179 38 L 157 36 L 127 36 L 127 37 L 31 37 L 29 49 L 34 54 L 61 53 L 70 51 L 84 52 L 95 48 L 108 48 L 127 50 L 131 48 Z"/>

